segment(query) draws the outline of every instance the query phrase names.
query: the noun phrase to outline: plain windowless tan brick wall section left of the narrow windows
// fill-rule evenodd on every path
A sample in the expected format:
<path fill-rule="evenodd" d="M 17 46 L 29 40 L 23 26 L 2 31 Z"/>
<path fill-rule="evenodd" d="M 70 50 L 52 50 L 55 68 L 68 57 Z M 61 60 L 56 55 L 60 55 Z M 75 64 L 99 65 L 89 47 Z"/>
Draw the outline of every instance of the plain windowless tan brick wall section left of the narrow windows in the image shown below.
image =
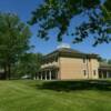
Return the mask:
<path fill-rule="evenodd" d="M 62 79 L 85 79 L 83 60 L 77 58 L 60 58 L 60 74 Z"/>

